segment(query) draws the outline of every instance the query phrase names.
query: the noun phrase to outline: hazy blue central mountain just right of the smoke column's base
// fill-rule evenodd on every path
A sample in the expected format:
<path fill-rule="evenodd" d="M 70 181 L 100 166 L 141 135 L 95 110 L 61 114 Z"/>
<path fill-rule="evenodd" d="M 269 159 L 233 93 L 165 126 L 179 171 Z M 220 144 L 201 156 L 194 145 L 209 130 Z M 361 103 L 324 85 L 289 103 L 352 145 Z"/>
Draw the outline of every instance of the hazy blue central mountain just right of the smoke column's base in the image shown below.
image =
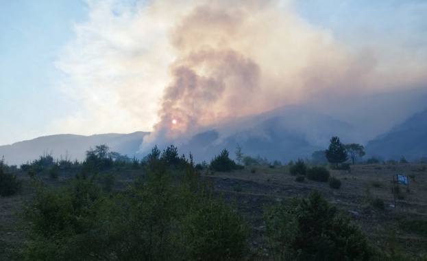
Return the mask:
<path fill-rule="evenodd" d="M 234 159 L 239 144 L 247 156 L 260 155 L 270 161 L 285 163 L 298 157 L 310 158 L 315 150 L 328 148 L 332 136 L 350 143 L 357 135 L 356 128 L 346 122 L 302 106 L 283 106 L 194 135 L 179 148 L 180 151 L 193 152 L 196 162 L 209 162 L 224 148 Z"/>

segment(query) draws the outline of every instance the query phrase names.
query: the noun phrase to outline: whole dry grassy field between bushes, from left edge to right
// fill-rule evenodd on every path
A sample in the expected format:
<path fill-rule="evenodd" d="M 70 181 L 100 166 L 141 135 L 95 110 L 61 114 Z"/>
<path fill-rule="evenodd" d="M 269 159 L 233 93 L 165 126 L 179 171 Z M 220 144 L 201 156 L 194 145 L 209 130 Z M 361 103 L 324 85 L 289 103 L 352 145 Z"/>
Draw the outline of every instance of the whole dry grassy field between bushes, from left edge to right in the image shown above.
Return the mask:
<path fill-rule="evenodd" d="M 254 166 L 234 172 L 202 171 L 202 176 L 215 183 L 215 191 L 227 201 L 236 203 L 239 212 L 252 225 L 249 245 L 253 251 L 268 251 L 264 233 L 263 212 L 276 201 L 286 201 L 293 196 L 306 197 L 317 189 L 338 209 L 352 216 L 369 236 L 371 245 L 379 251 L 407 258 L 427 255 L 427 164 L 395 163 L 352 166 L 347 170 L 330 170 L 341 180 L 339 189 L 329 188 L 328 183 L 295 181 L 289 166 Z M 79 169 L 62 170 L 58 181 L 44 181 L 49 185 L 64 183 Z M 116 177 L 115 189 L 141 174 L 141 170 L 114 169 L 108 171 Z M 404 174 L 409 184 L 400 185 L 393 196 L 393 177 Z M 101 173 L 102 175 L 102 173 Z M 101 176 L 100 175 L 100 176 Z M 32 196 L 27 174 L 19 173 L 24 180 L 19 195 L 0 198 L 0 260 L 19 260 L 17 249 L 24 242 L 20 224 L 23 201 Z M 395 199 L 394 199 L 395 198 Z M 269 259 L 267 255 L 264 256 Z"/>

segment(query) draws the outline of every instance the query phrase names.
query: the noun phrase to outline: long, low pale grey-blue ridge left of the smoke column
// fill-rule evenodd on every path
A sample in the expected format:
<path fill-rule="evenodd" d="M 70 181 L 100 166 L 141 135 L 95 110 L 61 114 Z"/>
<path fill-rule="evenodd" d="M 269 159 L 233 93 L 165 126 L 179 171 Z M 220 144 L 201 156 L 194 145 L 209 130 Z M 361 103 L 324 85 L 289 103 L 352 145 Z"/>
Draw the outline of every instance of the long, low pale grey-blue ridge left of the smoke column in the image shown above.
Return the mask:
<path fill-rule="evenodd" d="M 82 161 L 86 150 L 101 144 L 106 144 L 112 151 L 122 155 L 133 155 L 139 150 L 143 137 L 148 133 L 136 132 L 130 134 L 100 134 L 100 135 L 50 135 L 27 141 L 16 142 L 11 145 L 0 146 L 0 155 L 4 156 L 9 165 L 21 165 L 27 161 L 38 159 L 45 153 L 51 154 L 54 159 L 68 157 L 72 161 Z"/>

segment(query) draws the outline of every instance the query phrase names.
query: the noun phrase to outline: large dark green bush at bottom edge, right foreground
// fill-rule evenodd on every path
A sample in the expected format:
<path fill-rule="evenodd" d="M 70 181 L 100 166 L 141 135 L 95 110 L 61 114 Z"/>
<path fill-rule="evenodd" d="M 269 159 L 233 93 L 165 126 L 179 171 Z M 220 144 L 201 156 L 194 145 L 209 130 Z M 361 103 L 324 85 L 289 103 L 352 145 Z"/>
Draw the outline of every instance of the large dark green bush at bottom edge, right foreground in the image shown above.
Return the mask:
<path fill-rule="evenodd" d="M 373 254 L 363 230 L 317 190 L 308 200 L 276 203 L 264 220 L 276 260 L 370 260 Z"/>

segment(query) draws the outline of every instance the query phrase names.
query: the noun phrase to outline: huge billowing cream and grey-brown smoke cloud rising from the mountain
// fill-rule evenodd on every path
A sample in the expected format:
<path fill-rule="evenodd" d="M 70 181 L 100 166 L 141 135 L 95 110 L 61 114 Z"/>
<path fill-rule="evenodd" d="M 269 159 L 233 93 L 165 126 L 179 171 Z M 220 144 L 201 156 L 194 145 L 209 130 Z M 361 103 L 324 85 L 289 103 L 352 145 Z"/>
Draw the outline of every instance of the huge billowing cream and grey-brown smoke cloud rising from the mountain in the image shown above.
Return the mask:
<path fill-rule="evenodd" d="M 108 131 L 152 126 L 143 151 L 285 104 L 414 88 L 427 78 L 424 56 L 384 60 L 376 45 L 354 49 L 299 16 L 294 1 L 88 5 L 89 21 L 75 26 L 77 40 L 58 61 L 69 76 L 63 89 L 108 115 L 96 121 Z M 58 125 L 79 128 L 75 117 Z M 94 118 L 80 113 L 84 124 Z"/>

